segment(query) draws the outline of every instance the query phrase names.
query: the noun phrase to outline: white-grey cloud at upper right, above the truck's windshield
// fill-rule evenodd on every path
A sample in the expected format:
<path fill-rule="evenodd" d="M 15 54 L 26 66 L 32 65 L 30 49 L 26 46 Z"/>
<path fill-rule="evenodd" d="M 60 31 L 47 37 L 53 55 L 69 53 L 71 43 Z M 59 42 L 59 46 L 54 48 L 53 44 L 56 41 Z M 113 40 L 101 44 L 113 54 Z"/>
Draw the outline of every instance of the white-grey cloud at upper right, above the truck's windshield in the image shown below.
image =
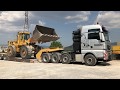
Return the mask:
<path fill-rule="evenodd" d="M 106 26 L 107 28 L 120 28 L 120 12 L 119 11 L 100 11 L 95 22 Z"/>

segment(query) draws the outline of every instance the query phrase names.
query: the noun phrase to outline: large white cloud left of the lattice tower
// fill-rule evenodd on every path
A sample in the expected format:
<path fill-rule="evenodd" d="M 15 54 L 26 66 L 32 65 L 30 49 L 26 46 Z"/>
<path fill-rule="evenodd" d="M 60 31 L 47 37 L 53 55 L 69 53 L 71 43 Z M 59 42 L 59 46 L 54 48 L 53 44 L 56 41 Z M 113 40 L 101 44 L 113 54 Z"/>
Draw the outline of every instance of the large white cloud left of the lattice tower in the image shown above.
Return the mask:
<path fill-rule="evenodd" d="M 23 24 L 17 25 L 17 21 L 24 20 L 24 11 L 3 11 L 0 14 L 0 31 L 11 32 L 23 30 Z M 15 23 L 17 22 L 17 23 Z M 23 21 L 24 22 L 24 21 Z"/>

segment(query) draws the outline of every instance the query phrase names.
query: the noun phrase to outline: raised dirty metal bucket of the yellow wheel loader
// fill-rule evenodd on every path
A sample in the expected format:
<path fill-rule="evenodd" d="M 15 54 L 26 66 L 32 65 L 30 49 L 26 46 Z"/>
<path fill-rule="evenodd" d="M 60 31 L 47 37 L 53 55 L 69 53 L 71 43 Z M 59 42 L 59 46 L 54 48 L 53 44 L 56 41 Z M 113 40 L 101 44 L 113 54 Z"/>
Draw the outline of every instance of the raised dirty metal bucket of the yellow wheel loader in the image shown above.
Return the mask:
<path fill-rule="evenodd" d="M 59 39 L 59 37 L 53 28 L 36 25 L 31 39 L 34 42 L 45 43 L 50 41 L 56 41 Z"/>

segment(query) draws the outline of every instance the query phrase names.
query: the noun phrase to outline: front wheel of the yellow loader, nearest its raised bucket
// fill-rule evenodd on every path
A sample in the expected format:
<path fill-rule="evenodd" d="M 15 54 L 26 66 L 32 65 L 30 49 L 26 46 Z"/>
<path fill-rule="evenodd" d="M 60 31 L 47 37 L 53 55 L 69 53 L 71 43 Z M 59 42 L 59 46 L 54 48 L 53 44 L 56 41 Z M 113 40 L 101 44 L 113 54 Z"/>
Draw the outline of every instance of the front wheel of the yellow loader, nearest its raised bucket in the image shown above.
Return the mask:
<path fill-rule="evenodd" d="M 29 46 L 22 46 L 20 48 L 20 56 L 22 59 L 30 59 L 32 55 L 32 50 Z"/>

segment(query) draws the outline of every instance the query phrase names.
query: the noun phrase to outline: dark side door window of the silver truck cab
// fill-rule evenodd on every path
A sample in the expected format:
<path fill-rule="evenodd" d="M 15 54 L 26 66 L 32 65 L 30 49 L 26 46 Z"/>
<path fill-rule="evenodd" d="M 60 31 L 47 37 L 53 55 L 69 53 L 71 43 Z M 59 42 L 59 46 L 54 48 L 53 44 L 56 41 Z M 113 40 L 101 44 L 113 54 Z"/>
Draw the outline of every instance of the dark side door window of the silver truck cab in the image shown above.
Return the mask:
<path fill-rule="evenodd" d="M 100 40 L 99 32 L 100 32 L 100 29 L 90 29 L 90 30 L 88 30 L 88 39 Z"/>

